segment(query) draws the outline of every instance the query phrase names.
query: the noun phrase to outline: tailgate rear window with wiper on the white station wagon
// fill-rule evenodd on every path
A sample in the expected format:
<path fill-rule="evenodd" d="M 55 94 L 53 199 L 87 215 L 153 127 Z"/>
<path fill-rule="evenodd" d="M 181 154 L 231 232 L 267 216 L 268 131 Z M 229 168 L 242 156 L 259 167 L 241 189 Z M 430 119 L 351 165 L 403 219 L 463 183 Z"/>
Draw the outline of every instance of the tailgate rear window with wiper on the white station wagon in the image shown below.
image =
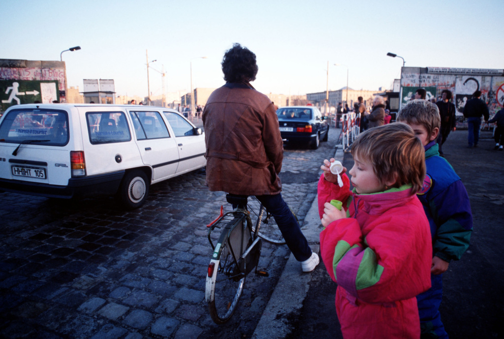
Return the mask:
<path fill-rule="evenodd" d="M 4 143 L 64 146 L 68 140 L 68 114 L 62 110 L 14 109 L 0 125 Z"/>

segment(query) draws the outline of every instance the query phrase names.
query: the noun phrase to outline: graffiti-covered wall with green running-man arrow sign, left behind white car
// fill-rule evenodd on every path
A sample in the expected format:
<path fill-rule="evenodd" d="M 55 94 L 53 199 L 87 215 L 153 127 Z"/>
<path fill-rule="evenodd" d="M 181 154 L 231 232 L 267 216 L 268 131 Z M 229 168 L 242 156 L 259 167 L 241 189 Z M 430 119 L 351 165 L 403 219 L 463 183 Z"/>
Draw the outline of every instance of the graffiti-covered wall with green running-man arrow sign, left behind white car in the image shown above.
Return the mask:
<path fill-rule="evenodd" d="M 0 59 L 0 107 L 66 102 L 65 62 Z"/>

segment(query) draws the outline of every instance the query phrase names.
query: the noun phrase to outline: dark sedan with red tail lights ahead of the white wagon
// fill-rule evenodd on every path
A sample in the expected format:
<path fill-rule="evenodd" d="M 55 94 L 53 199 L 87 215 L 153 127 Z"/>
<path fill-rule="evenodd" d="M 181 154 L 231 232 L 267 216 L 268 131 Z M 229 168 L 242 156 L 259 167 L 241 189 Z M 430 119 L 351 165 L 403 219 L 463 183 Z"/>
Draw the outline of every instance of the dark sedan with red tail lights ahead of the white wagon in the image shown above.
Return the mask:
<path fill-rule="evenodd" d="M 282 139 L 287 143 L 304 143 L 312 149 L 327 141 L 329 124 L 317 107 L 292 106 L 277 110 Z"/>

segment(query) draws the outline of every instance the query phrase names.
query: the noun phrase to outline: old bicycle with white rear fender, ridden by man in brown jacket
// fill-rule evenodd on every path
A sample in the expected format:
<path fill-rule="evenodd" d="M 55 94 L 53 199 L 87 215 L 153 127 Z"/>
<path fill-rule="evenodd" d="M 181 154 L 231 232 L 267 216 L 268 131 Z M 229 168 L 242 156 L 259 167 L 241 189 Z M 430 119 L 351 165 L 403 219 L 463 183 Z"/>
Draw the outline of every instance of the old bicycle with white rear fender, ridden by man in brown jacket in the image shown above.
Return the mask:
<path fill-rule="evenodd" d="M 213 253 L 208 265 L 205 301 L 217 324 L 225 323 L 233 315 L 245 278 L 254 268 L 257 275 L 268 277 L 267 272 L 257 268 L 262 239 L 285 243 L 274 219 L 256 197 L 226 194 L 226 200 L 235 206 L 234 211 L 223 214 L 221 206 L 220 216 L 207 225 Z M 222 229 L 218 237 L 213 232 L 217 228 Z"/>

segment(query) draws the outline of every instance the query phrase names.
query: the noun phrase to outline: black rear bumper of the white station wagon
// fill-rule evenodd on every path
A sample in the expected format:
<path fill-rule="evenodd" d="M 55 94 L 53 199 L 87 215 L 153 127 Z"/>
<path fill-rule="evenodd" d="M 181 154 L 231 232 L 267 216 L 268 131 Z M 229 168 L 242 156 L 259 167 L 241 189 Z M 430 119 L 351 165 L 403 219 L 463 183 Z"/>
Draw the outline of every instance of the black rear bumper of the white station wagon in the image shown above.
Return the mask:
<path fill-rule="evenodd" d="M 0 179 L 0 190 L 67 199 L 78 196 L 110 195 L 117 192 L 124 173 L 125 171 L 118 171 L 89 177 L 70 178 L 67 186 Z"/>

